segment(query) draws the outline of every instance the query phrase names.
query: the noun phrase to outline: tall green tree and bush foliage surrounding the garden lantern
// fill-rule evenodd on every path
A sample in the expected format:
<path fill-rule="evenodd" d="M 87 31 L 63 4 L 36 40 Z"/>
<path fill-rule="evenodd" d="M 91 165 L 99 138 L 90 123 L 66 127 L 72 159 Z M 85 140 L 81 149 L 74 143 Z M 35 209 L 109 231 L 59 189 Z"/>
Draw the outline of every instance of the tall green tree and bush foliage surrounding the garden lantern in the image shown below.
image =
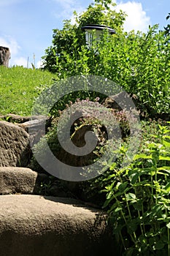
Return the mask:
<path fill-rule="evenodd" d="M 158 25 L 147 33 L 123 31 L 125 14 L 112 10 L 109 1 L 98 0 L 80 15 L 74 12 L 74 17 L 73 25 L 65 20 L 62 30 L 54 29 L 53 44 L 44 56 L 45 69 L 59 78 L 81 74 L 109 78 L 136 94 L 152 116 L 169 113 L 170 34 Z M 81 30 L 88 23 L 111 26 L 116 34 L 105 31 L 101 41 L 88 49 Z"/>

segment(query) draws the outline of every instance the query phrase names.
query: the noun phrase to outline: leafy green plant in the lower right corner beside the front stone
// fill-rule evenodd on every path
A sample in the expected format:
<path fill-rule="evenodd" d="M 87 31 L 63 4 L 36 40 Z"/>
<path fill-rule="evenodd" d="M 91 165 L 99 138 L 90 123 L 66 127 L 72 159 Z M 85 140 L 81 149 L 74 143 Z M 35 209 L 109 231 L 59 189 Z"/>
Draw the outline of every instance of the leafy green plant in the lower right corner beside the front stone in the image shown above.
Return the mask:
<path fill-rule="evenodd" d="M 170 129 L 158 126 L 158 141 L 146 140 L 128 167 L 112 164 L 104 180 L 104 208 L 123 255 L 170 255 Z"/>

